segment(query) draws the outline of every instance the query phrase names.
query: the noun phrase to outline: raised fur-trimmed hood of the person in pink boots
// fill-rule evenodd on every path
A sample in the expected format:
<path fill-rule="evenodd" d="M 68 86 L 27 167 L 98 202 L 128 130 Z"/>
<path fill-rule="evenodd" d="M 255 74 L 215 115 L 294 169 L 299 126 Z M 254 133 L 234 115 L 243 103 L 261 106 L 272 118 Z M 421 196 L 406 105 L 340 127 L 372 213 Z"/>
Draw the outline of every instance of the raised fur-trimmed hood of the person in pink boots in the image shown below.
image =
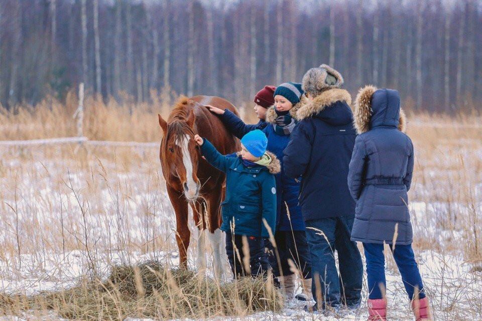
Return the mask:
<path fill-rule="evenodd" d="M 400 108 L 400 95 L 394 89 L 378 89 L 373 85 L 360 88 L 353 118 L 358 134 L 377 126 L 393 126 L 406 131 L 405 112 Z"/>

